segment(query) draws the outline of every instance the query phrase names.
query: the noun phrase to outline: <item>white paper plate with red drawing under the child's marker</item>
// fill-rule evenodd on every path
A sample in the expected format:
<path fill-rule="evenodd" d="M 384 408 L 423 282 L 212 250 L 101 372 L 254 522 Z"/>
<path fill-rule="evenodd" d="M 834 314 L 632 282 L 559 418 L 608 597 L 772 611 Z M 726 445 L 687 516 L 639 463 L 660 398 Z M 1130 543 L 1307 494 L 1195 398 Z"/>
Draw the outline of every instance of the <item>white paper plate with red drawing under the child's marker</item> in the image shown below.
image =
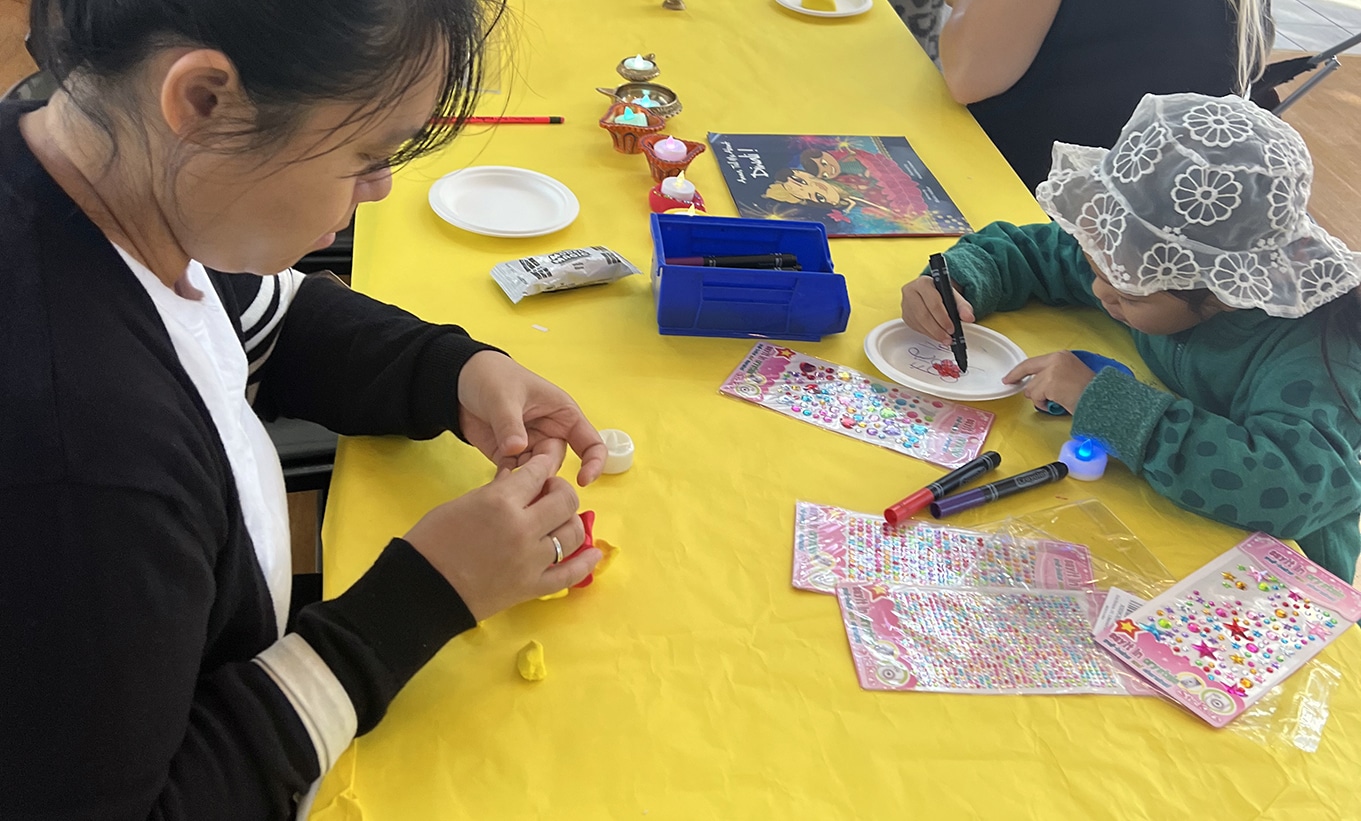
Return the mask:
<path fill-rule="evenodd" d="M 908 328 L 902 320 L 883 323 L 864 338 L 864 353 L 879 372 L 905 388 L 942 399 L 983 402 L 1019 393 L 1022 385 L 1006 385 L 1002 377 L 1026 359 L 1014 342 L 983 325 L 965 324 L 969 370 L 958 379 L 932 369 L 954 365 L 947 346 Z M 949 370 L 949 366 L 945 366 Z"/>

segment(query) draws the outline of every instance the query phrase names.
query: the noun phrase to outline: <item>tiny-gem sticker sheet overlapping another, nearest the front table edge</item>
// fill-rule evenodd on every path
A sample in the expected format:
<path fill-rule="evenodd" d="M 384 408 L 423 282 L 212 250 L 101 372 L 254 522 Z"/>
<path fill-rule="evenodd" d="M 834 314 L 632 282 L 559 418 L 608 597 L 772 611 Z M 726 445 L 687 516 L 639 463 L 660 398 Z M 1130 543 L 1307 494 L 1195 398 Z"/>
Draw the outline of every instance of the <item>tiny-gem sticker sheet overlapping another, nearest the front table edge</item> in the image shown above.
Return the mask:
<path fill-rule="evenodd" d="M 1127 694 L 1082 591 L 842 584 L 837 600 L 867 690 Z"/>

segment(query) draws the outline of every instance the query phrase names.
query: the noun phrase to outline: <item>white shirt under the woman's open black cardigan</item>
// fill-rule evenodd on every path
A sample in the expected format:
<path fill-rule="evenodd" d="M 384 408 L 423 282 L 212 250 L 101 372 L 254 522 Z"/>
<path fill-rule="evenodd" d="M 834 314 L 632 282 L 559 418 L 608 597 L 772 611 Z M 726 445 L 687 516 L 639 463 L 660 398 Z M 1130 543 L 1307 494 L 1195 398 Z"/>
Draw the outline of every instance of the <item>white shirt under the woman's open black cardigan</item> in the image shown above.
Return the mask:
<path fill-rule="evenodd" d="M 218 429 L 282 636 L 293 592 L 289 502 L 279 453 L 246 402 L 248 366 L 241 340 L 200 263 L 191 260 L 185 271 L 188 283 L 203 294 L 191 300 L 161 282 L 124 249 L 114 248 L 155 304 L 180 365 L 193 380 Z"/>

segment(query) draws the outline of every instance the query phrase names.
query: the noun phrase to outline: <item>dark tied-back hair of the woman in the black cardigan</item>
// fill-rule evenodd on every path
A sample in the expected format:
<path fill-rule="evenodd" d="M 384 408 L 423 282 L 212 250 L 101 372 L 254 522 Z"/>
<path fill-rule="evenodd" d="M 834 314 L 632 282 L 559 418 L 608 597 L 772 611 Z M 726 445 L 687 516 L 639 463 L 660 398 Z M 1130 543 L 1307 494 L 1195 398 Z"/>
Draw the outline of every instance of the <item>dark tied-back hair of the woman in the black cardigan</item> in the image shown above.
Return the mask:
<path fill-rule="evenodd" d="M 505 0 L 33 0 L 33 52 L 106 133 L 124 80 L 152 52 L 218 49 L 231 60 L 255 117 L 223 138 L 283 139 L 310 103 L 352 101 L 362 121 L 399 99 L 436 61 L 431 121 L 387 159 L 400 165 L 446 144 L 476 105 L 483 44 Z"/>

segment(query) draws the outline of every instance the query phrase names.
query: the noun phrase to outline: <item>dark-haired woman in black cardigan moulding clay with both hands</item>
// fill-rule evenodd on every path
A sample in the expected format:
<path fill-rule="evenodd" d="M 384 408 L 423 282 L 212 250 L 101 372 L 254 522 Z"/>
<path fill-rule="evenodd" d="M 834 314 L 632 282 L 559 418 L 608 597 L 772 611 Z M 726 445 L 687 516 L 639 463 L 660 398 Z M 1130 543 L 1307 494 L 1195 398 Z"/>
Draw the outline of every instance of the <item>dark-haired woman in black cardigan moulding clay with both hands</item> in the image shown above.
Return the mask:
<path fill-rule="evenodd" d="M 286 271 L 450 139 L 499 14 L 34 0 L 61 91 L 0 105 L 0 817 L 290 817 L 452 636 L 599 560 L 565 558 L 555 474 L 604 462 L 566 393 Z M 286 630 L 256 413 L 450 430 L 501 470 Z"/>

